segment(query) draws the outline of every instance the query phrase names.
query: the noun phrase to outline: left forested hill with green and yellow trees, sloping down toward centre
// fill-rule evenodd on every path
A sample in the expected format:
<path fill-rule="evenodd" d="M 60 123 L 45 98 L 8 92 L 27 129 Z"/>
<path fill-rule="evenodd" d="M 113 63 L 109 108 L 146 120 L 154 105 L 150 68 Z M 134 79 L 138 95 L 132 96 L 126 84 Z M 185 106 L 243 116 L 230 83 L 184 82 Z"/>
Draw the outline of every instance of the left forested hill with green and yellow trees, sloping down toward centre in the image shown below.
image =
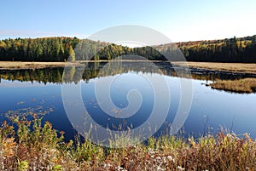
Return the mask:
<path fill-rule="evenodd" d="M 0 60 L 67 61 L 112 60 L 125 54 L 137 54 L 149 60 L 164 59 L 151 47 L 128 48 L 77 37 L 16 38 L 0 41 Z"/>

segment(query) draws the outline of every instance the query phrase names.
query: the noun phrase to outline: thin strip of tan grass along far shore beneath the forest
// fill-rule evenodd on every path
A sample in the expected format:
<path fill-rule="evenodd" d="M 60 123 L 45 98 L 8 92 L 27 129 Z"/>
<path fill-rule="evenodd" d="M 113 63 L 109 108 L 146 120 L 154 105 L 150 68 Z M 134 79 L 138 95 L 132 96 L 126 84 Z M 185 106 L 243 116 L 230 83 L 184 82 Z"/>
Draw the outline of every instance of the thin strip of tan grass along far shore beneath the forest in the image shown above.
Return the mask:
<path fill-rule="evenodd" d="M 85 62 L 108 62 L 108 60 L 79 60 L 75 62 L 23 62 L 23 61 L 0 61 L 0 70 L 36 69 L 60 66 L 81 66 Z M 121 61 L 148 61 L 148 60 L 121 60 Z M 152 61 L 152 60 L 151 60 Z M 154 62 L 163 62 L 154 60 Z M 217 63 L 217 62 L 172 62 L 175 66 L 189 66 L 215 71 L 229 71 L 236 73 L 256 74 L 256 63 Z"/>

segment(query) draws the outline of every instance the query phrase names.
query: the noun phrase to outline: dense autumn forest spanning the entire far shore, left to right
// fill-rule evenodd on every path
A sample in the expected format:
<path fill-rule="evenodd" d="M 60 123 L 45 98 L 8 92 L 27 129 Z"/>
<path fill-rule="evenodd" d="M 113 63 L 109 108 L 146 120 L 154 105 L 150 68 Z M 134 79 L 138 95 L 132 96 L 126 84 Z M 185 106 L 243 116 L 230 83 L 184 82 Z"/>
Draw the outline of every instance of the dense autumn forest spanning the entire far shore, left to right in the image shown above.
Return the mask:
<path fill-rule="evenodd" d="M 77 37 L 15 38 L 0 41 L 2 61 L 112 60 L 124 54 L 137 54 L 148 60 L 166 60 L 162 54 L 183 52 L 188 61 L 256 62 L 256 35 L 222 40 L 163 44 L 128 48 L 113 43 Z"/>

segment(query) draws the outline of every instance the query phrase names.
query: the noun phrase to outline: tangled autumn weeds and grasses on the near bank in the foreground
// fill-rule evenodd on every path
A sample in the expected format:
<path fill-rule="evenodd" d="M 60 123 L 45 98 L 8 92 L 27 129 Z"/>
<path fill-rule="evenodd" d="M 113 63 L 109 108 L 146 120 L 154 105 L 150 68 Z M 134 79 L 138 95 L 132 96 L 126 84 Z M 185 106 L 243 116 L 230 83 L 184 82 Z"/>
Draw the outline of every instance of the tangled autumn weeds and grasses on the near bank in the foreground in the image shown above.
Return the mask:
<path fill-rule="evenodd" d="M 41 119 L 12 117 L 0 128 L 1 170 L 256 170 L 256 140 L 218 133 L 194 140 L 150 138 L 147 145 L 103 148 L 68 143 Z M 17 126 L 15 132 L 14 126 Z"/>

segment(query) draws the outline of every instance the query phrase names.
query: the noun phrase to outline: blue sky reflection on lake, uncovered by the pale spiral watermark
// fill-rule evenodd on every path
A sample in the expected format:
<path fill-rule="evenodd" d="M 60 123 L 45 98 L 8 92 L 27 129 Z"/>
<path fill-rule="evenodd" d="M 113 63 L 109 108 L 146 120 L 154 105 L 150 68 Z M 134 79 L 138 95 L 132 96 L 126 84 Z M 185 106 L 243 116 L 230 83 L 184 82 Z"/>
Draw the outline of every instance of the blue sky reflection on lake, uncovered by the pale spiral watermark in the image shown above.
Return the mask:
<path fill-rule="evenodd" d="M 114 81 L 110 91 L 113 103 L 117 107 L 124 108 L 128 105 L 126 95 L 131 88 L 137 88 L 143 96 L 143 105 L 137 116 L 123 120 L 103 114 L 96 104 L 94 94 L 96 79 L 91 79 L 89 83 L 83 82 L 81 90 L 85 106 L 97 123 L 105 126 L 112 123 L 124 123 L 124 125 L 132 123 L 136 127 L 147 119 L 154 103 L 154 94 L 147 80 L 131 77 L 131 74 L 123 74 L 122 77 Z M 171 108 L 166 121 L 172 123 L 179 105 L 180 83 L 177 77 L 166 77 L 166 80 L 171 92 Z M 214 131 L 212 132 L 216 132 L 219 126 L 224 126 L 226 128 L 232 127 L 236 134 L 248 132 L 253 138 L 256 138 L 256 94 L 230 94 L 213 90 L 201 83 L 205 83 L 205 81 L 193 80 L 193 102 L 189 117 L 184 125 L 185 132 L 198 136 L 209 127 L 213 128 Z M 1 120 L 5 119 L 3 113 L 9 110 L 37 107 L 38 105 L 43 106 L 43 108 L 53 107 L 54 111 L 47 114 L 44 120 L 53 123 L 54 128 L 64 130 L 67 138 L 71 138 L 75 133 L 62 105 L 61 85 L 51 83 L 44 85 L 44 83 L 36 82 L 21 83 L 2 79 L 0 95 Z"/>

